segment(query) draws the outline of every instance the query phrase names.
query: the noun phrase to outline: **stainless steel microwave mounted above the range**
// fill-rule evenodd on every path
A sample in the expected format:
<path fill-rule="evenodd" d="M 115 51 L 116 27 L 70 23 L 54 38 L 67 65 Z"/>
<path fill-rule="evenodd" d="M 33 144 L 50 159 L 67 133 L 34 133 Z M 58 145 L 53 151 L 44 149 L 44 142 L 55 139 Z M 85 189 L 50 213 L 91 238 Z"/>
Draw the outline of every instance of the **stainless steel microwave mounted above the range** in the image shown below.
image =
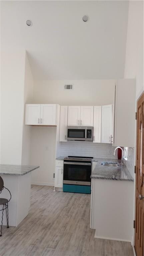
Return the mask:
<path fill-rule="evenodd" d="M 93 141 L 92 126 L 67 126 L 68 141 Z"/>

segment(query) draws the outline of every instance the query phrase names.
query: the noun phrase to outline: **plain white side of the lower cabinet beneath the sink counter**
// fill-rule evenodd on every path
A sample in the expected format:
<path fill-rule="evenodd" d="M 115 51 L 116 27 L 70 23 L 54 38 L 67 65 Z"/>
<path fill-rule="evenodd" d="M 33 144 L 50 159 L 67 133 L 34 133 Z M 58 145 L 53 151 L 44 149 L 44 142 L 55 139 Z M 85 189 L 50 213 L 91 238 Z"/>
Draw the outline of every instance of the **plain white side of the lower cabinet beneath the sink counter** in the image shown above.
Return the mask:
<path fill-rule="evenodd" d="M 91 180 L 90 228 L 96 230 L 95 238 L 132 241 L 133 182 Z"/>

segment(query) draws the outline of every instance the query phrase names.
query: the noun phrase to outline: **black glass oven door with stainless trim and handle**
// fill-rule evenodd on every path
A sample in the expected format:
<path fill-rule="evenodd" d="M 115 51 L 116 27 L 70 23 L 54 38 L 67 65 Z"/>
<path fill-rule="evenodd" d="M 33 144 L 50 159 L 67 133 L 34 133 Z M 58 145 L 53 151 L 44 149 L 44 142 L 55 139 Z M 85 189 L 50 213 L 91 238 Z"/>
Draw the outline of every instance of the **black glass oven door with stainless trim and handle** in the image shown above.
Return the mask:
<path fill-rule="evenodd" d="M 91 186 L 91 163 L 64 162 L 63 184 Z"/>

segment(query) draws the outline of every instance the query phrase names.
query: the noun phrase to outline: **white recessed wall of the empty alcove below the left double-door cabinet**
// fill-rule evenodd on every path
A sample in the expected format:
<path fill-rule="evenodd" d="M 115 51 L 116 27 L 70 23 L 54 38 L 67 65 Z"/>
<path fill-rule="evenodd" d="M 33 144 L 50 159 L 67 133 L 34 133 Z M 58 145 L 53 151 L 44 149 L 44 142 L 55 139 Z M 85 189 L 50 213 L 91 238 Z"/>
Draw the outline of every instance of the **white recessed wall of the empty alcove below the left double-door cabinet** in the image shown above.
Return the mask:
<path fill-rule="evenodd" d="M 40 166 L 32 172 L 32 184 L 53 185 L 55 172 L 56 127 L 32 127 L 31 165 Z"/>

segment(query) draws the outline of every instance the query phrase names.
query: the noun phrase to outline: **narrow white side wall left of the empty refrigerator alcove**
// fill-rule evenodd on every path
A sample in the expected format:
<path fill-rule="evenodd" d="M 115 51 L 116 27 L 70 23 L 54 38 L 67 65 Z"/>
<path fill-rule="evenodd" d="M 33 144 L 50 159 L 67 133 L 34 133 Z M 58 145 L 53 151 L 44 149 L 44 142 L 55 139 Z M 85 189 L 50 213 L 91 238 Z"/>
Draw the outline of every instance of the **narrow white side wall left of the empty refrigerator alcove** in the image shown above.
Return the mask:
<path fill-rule="evenodd" d="M 24 125 L 24 107 L 25 103 L 32 103 L 33 100 L 33 76 L 29 65 L 28 56 L 25 57 L 25 86 L 23 101 L 23 138 L 22 138 L 22 165 L 30 164 L 30 142 L 32 127 Z"/>

